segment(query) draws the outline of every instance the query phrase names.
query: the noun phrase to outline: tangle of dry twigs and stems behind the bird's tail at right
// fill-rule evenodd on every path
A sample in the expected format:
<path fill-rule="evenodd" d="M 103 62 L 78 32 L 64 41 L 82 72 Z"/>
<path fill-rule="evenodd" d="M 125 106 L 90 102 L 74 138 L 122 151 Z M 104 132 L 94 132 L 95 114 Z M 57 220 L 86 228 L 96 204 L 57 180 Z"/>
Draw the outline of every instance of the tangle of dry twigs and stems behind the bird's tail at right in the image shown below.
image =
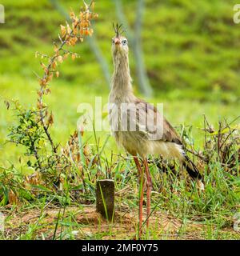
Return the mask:
<path fill-rule="evenodd" d="M 215 129 L 204 115 L 204 127 L 201 129 L 204 132 L 202 151 L 194 149 L 194 143 L 189 136 L 190 130 L 186 131 L 182 127 L 182 138 L 186 147 L 198 158 L 199 165 L 207 166 L 210 162 L 219 162 L 226 171 L 238 174 L 240 170 L 240 126 L 235 123 L 239 118 L 235 118 L 232 122 L 219 121 L 218 128 Z"/>

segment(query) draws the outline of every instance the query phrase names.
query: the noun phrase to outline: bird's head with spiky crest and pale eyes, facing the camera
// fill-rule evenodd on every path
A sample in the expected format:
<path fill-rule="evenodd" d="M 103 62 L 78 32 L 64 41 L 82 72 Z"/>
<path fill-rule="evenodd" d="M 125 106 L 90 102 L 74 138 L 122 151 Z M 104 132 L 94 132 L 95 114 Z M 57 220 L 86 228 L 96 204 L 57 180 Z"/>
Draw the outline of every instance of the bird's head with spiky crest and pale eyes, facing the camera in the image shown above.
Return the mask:
<path fill-rule="evenodd" d="M 122 36 L 123 30 L 121 30 L 121 26 L 122 24 L 118 26 L 118 23 L 114 26 L 115 36 L 112 38 L 112 53 L 114 55 L 128 54 L 128 42 L 127 39 Z"/>

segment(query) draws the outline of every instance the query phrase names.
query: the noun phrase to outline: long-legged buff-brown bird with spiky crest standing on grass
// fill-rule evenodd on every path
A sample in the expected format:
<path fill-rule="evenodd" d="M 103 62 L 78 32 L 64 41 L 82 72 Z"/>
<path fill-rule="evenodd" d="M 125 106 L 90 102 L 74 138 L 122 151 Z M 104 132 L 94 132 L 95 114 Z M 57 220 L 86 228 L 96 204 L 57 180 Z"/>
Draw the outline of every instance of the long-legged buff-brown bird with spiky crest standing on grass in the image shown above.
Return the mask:
<path fill-rule="evenodd" d="M 202 174 L 186 155 L 186 149 L 174 127 L 152 104 L 134 94 L 130 76 L 129 46 L 127 38 L 122 35 L 122 25 L 114 26 L 114 38 L 111 53 L 114 73 L 110 82 L 108 112 L 110 129 L 119 146 L 133 156 L 139 175 L 138 227 L 142 234 L 142 206 L 144 178 L 146 174 L 146 228 L 150 225 L 150 196 L 152 181 L 148 166 L 148 157 L 177 158 L 186 168 L 200 190 L 204 190 Z M 142 165 L 141 165 L 142 163 Z M 142 166 L 144 170 L 142 169 Z"/>

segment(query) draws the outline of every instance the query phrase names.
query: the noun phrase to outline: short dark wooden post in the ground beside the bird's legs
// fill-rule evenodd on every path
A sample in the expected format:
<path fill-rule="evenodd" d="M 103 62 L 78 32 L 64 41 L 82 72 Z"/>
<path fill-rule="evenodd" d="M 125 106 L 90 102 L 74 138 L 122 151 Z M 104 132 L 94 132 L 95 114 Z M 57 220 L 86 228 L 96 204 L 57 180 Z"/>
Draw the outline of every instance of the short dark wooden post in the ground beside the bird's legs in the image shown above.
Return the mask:
<path fill-rule="evenodd" d="M 97 181 L 96 209 L 104 218 L 114 218 L 114 181 L 102 179 Z"/>

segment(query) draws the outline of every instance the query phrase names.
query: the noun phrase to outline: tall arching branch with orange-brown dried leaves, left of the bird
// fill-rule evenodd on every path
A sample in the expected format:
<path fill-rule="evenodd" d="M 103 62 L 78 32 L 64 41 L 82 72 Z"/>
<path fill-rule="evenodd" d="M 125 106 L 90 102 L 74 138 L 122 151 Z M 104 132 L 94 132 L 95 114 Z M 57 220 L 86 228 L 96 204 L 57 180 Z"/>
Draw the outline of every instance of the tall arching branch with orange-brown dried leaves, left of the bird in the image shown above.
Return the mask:
<path fill-rule="evenodd" d="M 53 139 L 50 136 L 49 127 L 54 122 L 52 113 L 49 113 L 47 106 L 43 102 L 43 96 L 50 93 L 49 82 L 53 79 L 54 74 L 58 78 L 59 71 L 58 65 L 71 56 L 74 60 L 78 57 L 78 54 L 66 50 L 64 46 L 75 46 L 77 42 L 83 42 L 85 36 L 91 36 L 94 30 L 90 27 L 91 20 L 98 18 L 98 14 L 91 12 L 90 8 L 94 7 L 94 1 L 90 2 L 90 5 L 85 3 L 85 7 L 82 8 L 79 15 L 74 14 L 74 11 L 70 12 L 70 18 L 72 24 L 66 22 L 66 26 L 61 25 L 60 34 L 58 34 L 59 42 L 54 42 L 54 54 L 53 56 L 47 56 L 46 54 L 36 53 L 36 56 L 40 55 L 46 59 L 46 63 L 41 62 L 44 74 L 42 78 L 38 76 L 40 89 L 38 90 L 38 104 L 39 118 L 42 122 L 42 127 L 46 133 L 50 145 L 54 153 L 57 153 L 57 146 L 54 144 Z"/>

